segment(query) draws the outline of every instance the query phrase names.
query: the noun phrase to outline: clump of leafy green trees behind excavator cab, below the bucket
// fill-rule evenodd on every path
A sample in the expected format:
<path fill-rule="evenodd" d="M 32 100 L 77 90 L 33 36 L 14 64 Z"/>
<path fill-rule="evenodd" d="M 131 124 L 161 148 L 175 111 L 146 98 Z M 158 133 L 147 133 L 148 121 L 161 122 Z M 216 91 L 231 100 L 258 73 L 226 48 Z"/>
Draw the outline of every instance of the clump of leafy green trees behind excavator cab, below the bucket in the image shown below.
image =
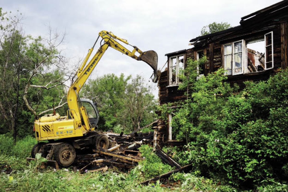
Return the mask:
<path fill-rule="evenodd" d="M 98 103 L 101 130 L 130 132 L 155 117 L 154 96 L 140 76 L 106 74 L 88 81 L 80 96 Z"/>

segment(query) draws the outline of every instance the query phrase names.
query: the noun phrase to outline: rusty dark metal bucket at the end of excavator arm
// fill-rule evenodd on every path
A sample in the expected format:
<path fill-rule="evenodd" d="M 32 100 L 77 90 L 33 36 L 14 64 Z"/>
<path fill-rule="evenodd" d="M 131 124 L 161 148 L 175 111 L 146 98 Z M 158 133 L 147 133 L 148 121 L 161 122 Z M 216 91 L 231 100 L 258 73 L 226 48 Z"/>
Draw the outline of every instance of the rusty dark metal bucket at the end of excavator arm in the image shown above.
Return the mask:
<path fill-rule="evenodd" d="M 156 83 L 158 81 L 157 66 L 158 66 L 158 55 L 155 51 L 145 51 L 139 55 L 139 61 L 144 61 L 154 70 L 154 77 L 152 81 Z M 152 75 L 153 76 L 153 75 Z"/>

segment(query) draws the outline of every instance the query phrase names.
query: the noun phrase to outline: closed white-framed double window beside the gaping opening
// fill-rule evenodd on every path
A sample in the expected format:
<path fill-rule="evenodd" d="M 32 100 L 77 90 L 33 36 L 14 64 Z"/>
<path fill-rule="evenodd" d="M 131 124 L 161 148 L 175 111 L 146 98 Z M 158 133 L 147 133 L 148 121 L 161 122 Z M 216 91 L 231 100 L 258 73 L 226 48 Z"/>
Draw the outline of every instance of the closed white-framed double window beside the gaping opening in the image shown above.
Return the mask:
<path fill-rule="evenodd" d="M 243 40 L 224 45 L 225 75 L 243 73 Z"/>

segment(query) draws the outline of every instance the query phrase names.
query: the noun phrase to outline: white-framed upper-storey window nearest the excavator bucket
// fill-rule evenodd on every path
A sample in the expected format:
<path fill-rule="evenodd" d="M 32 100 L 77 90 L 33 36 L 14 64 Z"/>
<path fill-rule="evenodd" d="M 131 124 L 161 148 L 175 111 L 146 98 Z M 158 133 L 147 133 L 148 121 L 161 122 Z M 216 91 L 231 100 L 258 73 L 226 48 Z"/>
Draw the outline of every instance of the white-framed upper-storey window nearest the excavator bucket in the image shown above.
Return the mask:
<path fill-rule="evenodd" d="M 184 70 L 184 55 L 169 58 L 169 85 L 179 84 L 179 74 Z"/>

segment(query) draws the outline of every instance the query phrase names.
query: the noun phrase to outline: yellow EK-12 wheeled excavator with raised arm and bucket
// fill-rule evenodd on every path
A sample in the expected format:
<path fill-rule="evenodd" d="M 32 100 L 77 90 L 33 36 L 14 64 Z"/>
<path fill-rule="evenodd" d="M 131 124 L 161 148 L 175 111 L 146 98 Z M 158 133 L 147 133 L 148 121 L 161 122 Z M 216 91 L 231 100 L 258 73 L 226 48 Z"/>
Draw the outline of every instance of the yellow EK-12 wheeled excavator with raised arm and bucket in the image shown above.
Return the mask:
<path fill-rule="evenodd" d="M 88 62 L 99 38 L 102 38 L 100 48 Z M 56 161 L 58 165 L 67 167 L 74 162 L 77 152 L 81 150 L 91 148 L 99 150 L 111 147 L 113 142 L 105 134 L 94 130 L 99 119 L 96 103 L 88 99 L 81 99 L 78 95 L 105 51 L 110 46 L 133 59 L 144 61 L 154 70 L 151 76 L 152 81 L 157 82 L 158 80 L 157 53 L 155 51 L 142 52 L 132 45 L 134 49 L 129 51 L 119 41 L 130 45 L 127 40 L 115 36 L 112 32 L 101 31 L 99 33 L 96 42 L 89 49 L 77 70 L 77 79 L 67 93 L 67 116 L 60 116 L 54 110 L 53 114 L 46 114 L 35 120 L 35 137 L 38 143 L 31 151 L 32 158 L 35 158 L 35 154 L 40 153 L 47 160 Z"/>

